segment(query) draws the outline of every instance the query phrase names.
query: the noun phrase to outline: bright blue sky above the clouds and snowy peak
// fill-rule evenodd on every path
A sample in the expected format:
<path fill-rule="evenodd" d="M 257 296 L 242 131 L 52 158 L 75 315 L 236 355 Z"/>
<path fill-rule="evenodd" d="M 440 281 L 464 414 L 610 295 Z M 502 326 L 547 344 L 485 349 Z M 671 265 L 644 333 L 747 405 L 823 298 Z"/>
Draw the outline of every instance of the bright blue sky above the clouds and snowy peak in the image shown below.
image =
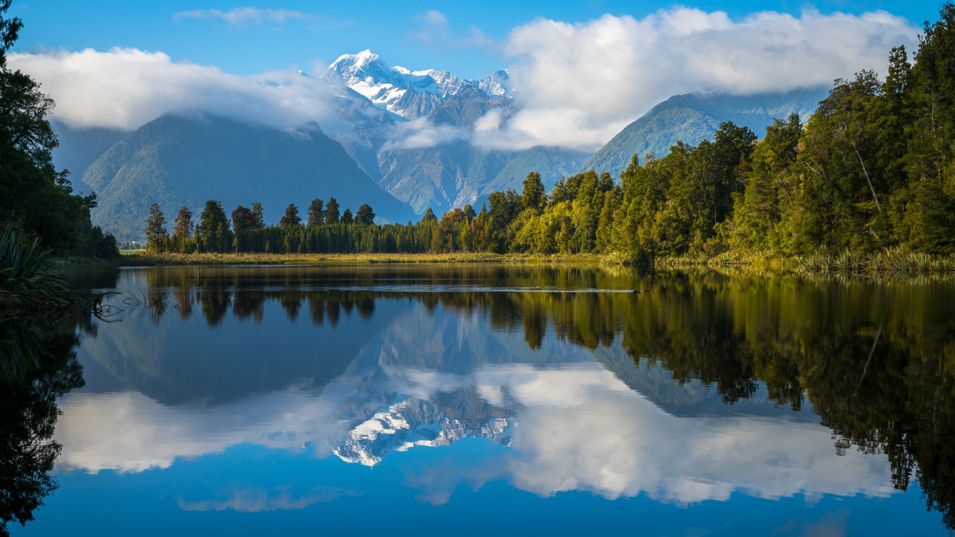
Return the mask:
<path fill-rule="evenodd" d="M 99 0 L 14 0 L 11 12 L 26 28 L 16 50 L 78 51 L 113 47 L 161 51 L 173 61 L 191 61 L 221 67 L 226 73 L 248 75 L 297 68 L 316 71 L 339 54 L 370 48 L 392 64 L 413 69 L 443 68 L 477 77 L 510 65 L 500 43 L 512 29 L 538 17 L 586 22 L 604 13 L 642 18 L 680 4 L 668 2 L 532 2 L 486 0 L 477 2 L 304 2 L 235 3 L 215 0 L 129 2 Z M 726 2 L 700 0 L 685 6 L 703 11 L 726 11 L 733 19 L 753 11 L 781 11 L 798 15 L 804 8 L 821 13 L 859 14 L 884 10 L 920 25 L 934 20 L 940 3 L 904 0 L 825 0 L 804 3 L 787 0 Z M 253 6 L 297 11 L 305 19 L 286 18 L 231 24 L 222 18 L 175 19 L 180 11 L 219 10 Z M 440 11 L 447 20 L 429 26 L 425 13 Z M 430 39 L 422 40 L 421 32 Z M 475 36 L 478 38 L 475 38 Z M 430 42 L 429 42 L 430 41 Z"/>

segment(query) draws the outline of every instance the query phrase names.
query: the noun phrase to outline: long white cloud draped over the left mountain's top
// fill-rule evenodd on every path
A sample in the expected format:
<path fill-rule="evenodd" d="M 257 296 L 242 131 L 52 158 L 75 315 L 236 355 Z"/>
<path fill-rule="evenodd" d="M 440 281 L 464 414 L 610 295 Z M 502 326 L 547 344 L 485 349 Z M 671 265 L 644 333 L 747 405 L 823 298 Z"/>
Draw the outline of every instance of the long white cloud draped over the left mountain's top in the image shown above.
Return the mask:
<path fill-rule="evenodd" d="M 334 116 L 313 79 L 264 84 L 285 73 L 228 75 L 137 49 L 11 54 L 9 61 L 43 84 L 56 101 L 53 116 L 72 126 L 131 130 L 165 114 L 210 113 L 285 129 Z"/>

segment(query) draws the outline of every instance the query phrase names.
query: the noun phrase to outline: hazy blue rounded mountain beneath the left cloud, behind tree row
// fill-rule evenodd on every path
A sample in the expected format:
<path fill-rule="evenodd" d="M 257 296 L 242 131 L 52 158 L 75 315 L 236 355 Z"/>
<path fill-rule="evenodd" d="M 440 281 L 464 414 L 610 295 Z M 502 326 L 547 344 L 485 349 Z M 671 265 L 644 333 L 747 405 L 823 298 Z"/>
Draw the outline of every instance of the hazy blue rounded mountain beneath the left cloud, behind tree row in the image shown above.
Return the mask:
<path fill-rule="evenodd" d="M 304 212 L 313 198 L 329 197 L 343 210 L 371 204 L 384 221 L 414 216 L 317 127 L 285 133 L 215 116 L 154 119 L 103 153 L 82 182 L 99 195 L 94 222 L 121 240 L 141 237 L 153 203 L 170 220 L 180 205 L 198 218 L 206 200 L 221 200 L 226 214 L 260 202 L 271 223 L 289 203 Z"/>

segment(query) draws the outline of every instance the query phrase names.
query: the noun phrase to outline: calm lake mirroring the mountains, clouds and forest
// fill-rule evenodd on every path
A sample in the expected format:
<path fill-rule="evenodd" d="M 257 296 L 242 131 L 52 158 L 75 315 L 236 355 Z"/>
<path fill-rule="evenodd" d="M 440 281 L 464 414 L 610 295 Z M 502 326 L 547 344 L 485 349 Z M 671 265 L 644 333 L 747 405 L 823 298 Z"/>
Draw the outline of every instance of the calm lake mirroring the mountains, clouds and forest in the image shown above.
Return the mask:
<path fill-rule="evenodd" d="M 0 332 L 0 514 L 35 517 L 14 535 L 955 526 L 950 282 L 499 265 L 70 278 L 69 319 Z"/>

